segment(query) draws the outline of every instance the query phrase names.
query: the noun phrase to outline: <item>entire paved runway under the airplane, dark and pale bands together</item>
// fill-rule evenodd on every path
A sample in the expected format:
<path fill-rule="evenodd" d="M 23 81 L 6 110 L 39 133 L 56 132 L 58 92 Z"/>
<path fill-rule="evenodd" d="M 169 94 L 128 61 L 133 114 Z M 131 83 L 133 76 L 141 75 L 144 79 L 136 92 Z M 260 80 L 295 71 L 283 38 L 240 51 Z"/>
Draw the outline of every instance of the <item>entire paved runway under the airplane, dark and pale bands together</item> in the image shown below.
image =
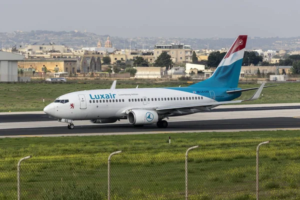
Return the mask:
<path fill-rule="evenodd" d="M 219 106 L 209 112 L 171 117 L 167 128 L 157 128 L 156 124 L 134 127 L 126 120 L 110 124 L 93 124 L 83 120 L 74 121 L 74 124 L 74 129 L 68 129 L 66 123 L 57 122 L 42 112 L 1 113 L 0 137 L 300 130 L 300 104 Z"/>

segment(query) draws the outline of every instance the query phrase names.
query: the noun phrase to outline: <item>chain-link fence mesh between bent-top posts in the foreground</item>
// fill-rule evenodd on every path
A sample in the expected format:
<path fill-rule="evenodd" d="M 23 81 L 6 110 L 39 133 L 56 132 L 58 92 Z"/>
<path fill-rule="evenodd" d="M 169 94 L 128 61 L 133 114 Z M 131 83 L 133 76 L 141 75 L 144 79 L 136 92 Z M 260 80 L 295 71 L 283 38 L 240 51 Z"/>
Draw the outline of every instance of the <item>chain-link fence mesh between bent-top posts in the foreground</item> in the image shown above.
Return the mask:
<path fill-rule="evenodd" d="M 188 199 L 256 199 L 257 145 L 219 144 L 190 150 Z M 186 199 L 187 148 L 123 150 L 113 155 L 110 199 Z M 299 198 L 299 150 L 300 141 L 260 146 L 259 199 Z M 110 153 L 32 155 L 20 166 L 20 199 L 107 199 Z M 0 158 L 0 199 L 17 199 L 20 158 Z"/>

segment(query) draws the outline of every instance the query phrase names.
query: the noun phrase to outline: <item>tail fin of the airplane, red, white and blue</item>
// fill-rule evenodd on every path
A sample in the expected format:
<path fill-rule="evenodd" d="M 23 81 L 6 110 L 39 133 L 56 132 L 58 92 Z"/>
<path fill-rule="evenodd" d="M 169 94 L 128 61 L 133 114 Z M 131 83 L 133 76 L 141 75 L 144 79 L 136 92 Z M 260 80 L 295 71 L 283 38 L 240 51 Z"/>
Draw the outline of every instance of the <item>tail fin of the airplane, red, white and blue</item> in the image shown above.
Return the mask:
<path fill-rule="evenodd" d="M 190 87 L 237 87 L 247 35 L 239 35 L 213 74 Z"/>

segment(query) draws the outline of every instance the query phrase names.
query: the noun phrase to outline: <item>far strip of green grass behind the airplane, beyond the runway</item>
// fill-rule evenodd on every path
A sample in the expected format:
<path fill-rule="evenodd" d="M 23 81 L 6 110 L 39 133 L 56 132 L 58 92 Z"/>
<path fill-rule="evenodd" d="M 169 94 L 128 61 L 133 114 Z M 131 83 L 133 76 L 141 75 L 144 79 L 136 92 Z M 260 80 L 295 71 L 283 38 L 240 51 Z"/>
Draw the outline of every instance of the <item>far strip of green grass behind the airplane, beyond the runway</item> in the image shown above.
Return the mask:
<path fill-rule="evenodd" d="M 49 84 L 49 83 L 0 83 L 0 112 L 41 111 L 45 105 L 67 92 L 109 88 L 112 81 L 97 81 L 90 84 Z M 185 81 L 118 81 L 117 88 L 187 86 Z M 241 84 L 242 88 L 259 86 Z M 243 92 L 238 99 L 251 97 L 252 91 Z M 300 102 L 300 83 L 281 83 L 279 86 L 264 88 L 263 96 L 255 101 L 243 103 L 292 103 Z M 44 98 L 44 102 L 43 102 Z"/>

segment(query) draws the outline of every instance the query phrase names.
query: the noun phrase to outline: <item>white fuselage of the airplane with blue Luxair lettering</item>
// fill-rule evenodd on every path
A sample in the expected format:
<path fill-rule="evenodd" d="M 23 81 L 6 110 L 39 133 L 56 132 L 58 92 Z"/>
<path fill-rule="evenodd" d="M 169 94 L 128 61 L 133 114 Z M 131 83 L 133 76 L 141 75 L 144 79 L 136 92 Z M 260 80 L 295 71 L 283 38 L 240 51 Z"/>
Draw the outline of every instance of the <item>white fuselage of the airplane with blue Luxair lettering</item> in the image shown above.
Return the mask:
<path fill-rule="evenodd" d="M 128 109 L 155 110 L 156 107 L 163 106 L 214 102 L 213 98 L 169 88 L 96 89 L 61 95 L 56 98 L 56 102 L 47 105 L 44 111 L 57 118 L 72 120 L 121 119 L 126 118 L 125 111 Z M 165 109 L 158 110 L 157 113 L 185 115 L 198 111 L 200 110 L 172 112 L 171 109 Z"/>

